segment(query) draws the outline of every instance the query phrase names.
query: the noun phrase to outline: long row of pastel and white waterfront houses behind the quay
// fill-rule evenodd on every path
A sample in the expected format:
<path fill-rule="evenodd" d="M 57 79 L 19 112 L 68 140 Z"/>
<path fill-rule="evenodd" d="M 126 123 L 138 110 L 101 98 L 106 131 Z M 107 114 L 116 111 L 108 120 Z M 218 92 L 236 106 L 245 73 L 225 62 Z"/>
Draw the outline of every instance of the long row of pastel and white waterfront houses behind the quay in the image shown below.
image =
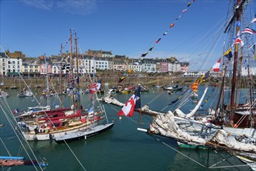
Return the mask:
<path fill-rule="evenodd" d="M 176 58 L 142 58 L 131 59 L 125 55 L 113 55 L 111 51 L 86 51 L 85 54 L 51 55 L 49 58 L 26 58 L 22 52 L 0 53 L 0 75 L 45 75 L 70 72 L 85 74 L 95 73 L 97 70 L 128 71 L 135 72 L 188 72 L 189 63 L 177 61 Z M 12 54 L 12 55 L 11 55 Z M 12 57 L 12 58 L 10 58 Z M 79 65 L 77 65 L 79 64 Z M 68 67 L 67 67 L 68 66 Z"/>

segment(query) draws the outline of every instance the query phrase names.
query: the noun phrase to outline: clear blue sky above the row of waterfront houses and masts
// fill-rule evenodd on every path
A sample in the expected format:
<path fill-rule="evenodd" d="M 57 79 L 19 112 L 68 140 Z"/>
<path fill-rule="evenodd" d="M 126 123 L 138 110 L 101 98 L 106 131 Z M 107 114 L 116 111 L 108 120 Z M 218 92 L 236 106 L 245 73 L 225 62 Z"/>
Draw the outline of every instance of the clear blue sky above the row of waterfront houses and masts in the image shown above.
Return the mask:
<path fill-rule="evenodd" d="M 0 44 L 26 57 L 50 56 L 59 53 L 74 29 L 82 53 L 103 50 L 141 58 L 162 37 L 146 58 L 176 57 L 190 62 L 191 70 L 207 69 L 223 53 L 205 49 L 213 48 L 206 41 L 215 41 L 229 1 L 195 0 L 189 7 L 188 2 L 192 0 L 1 0 Z"/>

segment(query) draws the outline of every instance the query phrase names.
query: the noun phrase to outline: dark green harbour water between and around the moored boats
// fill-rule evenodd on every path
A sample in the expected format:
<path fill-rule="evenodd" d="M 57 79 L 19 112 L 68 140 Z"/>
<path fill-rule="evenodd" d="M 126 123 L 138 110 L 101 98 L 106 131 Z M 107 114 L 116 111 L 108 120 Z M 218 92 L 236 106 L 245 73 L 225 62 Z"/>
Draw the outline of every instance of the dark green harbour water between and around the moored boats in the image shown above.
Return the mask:
<path fill-rule="evenodd" d="M 172 101 L 181 96 L 188 87 L 184 86 L 181 92 L 174 92 L 174 94 L 168 94 L 166 90 L 156 89 L 151 87 L 149 92 L 141 93 L 142 106 L 147 104 L 149 109 L 167 112 L 168 110 L 174 111 L 184 100 L 186 93 L 181 97 L 177 103 L 170 105 Z M 199 98 L 202 95 L 204 87 L 199 88 Z M 28 154 L 21 149 L 21 144 L 28 149 L 28 145 L 24 141 L 19 141 L 17 134 L 12 130 L 11 124 L 5 117 L 5 113 L 12 114 L 9 110 L 27 110 L 28 106 L 37 106 L 37 100 L 40 99 L 40 92 L 42 89 L 33 89 L 33 93 L 37 96 L 37 99 L 33 97 L 18 98 L 17 89 L 8 89 L 9 97 L 5 99 L 1 98 L 1 115 L 0 124 L 4 124 L 0 127 L 0 138 L 2 142 L 0 144 L 0 155 L 12 156 L 25 156 L 29 159 Z M 210 103 L 210 99 L 216 98 L 216 92 L 218 89 L 211 87 L 207 92 L 205 99 L 200 108 L 201 113 L 207 113 L 209 107 L 214 106 Z M 114 98 L 118 99 L 122 103 L 125 103 L 132 94 L 116 94 Z M 51 96 L 51 106 L 60 105 L 55 102 L 56 96 Z M 84 109 L 90 107 L 90 95 L 81 95 L 82 106 Z M 247 100 L 246 96 L 244 99 Z M 72 104 L 70 96 L 63 96 L 64 106 L 69 107 Z M 195 103 L 191 102 L 192 99 L 188 98 L 188 102 L 181 106 L 181 110 L 184 113 L 188 113 L 189 110 L 195 106 Z M 8 104 L 9 106 L 6 106 Z M 213 152 L 211 150 L 203 149 L 189 149 L 178 148 L 177 142 L 170 138 L 163 138 L 159 136 L 153 136 L 146 134 L 145 132 L 138 131 L 138 127 L 147 128 L 152 120 L 149 116 L 142 116 L 142 122 L 140 123 L 139 113 L 134 114 L 134 117 L 120 117 L 117 116 L 121 107 L 105 104 L 107 111 L 107 117 L 110 122 L 114 122 L 114 127 L 109 131 L 105 131 L 102 134 L 98 134 L 92 138 L 82 139 L 79 141 L 57 144 L 55 141 L 29 141 L 28 144 L 38 160 L 44 160 L 49 164 L 46 169 L 49 171 L 55 170 L 88 170 L 88 171 L 167 171 L 167 170 L 251 170 L 248 166 L 240 162 L 236 157 L 229 155 L 226 152 Z M 4 111 L 5 112 L 4 112 Z M 7 111 L 7 112 L 6 112 Z M 12 120 L 13 124 L 15 122 Z M 17 127 L 13 127 L 16 129 Z M 31 159 L 35 157 L 29 152 Z M 226 159 L 228 158 L 228 159 Z M 225 161 L 223 161 L 226 159 Z M 223 162 L 222 162 L 223 161 Z M 220 162 L 215 167 L 221 166 L 221 168 L 209 168 L 213 167 L 217 162 Z M 223 167 L 233 166 L 233 167 Z M 2 167 L 2 170 L 36 170 L 33 166 L 12 166 Z M 39 167 L 37 167 L 40 170 Z"/>

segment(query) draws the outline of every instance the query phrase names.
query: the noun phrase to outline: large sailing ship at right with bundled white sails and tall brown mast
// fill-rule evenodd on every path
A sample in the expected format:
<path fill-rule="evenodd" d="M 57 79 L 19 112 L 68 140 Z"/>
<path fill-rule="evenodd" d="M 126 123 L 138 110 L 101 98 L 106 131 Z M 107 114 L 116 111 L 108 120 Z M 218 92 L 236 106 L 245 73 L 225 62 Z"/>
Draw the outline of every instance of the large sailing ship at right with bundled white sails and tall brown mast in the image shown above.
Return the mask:
<path fill-rule="evenodd" d="M 231 26 L 233 23 L 243 23 L 244 27 L 241 24 L 234 28 L 235 31 L 231 37 L 236 36 L 236 38 L 228 48 L 228 51 L 225 51 L 223 54 L 223 60 L 228 59 L 223 65 L 223 82 L 222 86 L 220 86 L 219 98 L 216 98 L 219 101 L 217 102 L 216 110 L 209 110 L 210 118 L 205 121 L 198 121 L 192 117 L 194 114 L 184 114 L 181 110 L 176 109 L 174 113 L 169 111 L 166 114 L 154 117 L 149 127 L 149 134 L 159 134 L 164 137 L 174 138 L 179 145 L 183 146 L 188 145 L 191 147 L 191 145 L 194 145 L 222 149 L 237 156 L 238 159 L 251 166 L 251 169 L 256 170 L 256 99 L 251 93 L 253 86 L 251 82 L 252 73 L 250 72 L 250 68 L 255 67 L 255 54 L 254 51 L 251 51 L 251 48 L 255 46 L 255 39 L 251 36 L 252 33 L 255 35 L 256 32 L 248 29 L 248 26 L 256 23 L 256 18 L 252 18 L 250 23 L 246 23 L 246 21 L 242 21 L 243 18 L 240 15 L 243 12 L 244 16 L 246 16 L 244 9 L 247 9 L 246 6 L 250 5 L 250 3 L 245 0 L 234 3 L 233 16 L 230 17 L 226 25 L 225 32 L 227 30 L 233 30 Z M 240 34 L 241 31 L 243 34 Z M 250 38 L 246 38 L 247 36 Z M 254 46 L 251 46 L 251 44 L 254 44 Z M 223 88 L 225 86 L 226 65 L 232 64 L 230 61 L 232 50 L 230 49 L 233 47 L 233 71 L 230 72 L 232 73 L 232 89 L 229 94 L 230 103 L 227 105 L 224 103 Z M 239 53 L 239 51 L 241 52 Z M 243 52 L 246 54 L 243 54 Z M 244 70 L 247 71 L 247 77 L 244 77 L 244 81 L 247 81 L 247 85 L 249 86 L 249 99 L 247 103 L 240 104 L 239 89 L 243 64 L 246 64 L 244 65 L 246 68 Z M 221 101 L 223 102 L 222 106 L 220 105 Z M 221 127 L 217 127 L 218 124 Z"/>

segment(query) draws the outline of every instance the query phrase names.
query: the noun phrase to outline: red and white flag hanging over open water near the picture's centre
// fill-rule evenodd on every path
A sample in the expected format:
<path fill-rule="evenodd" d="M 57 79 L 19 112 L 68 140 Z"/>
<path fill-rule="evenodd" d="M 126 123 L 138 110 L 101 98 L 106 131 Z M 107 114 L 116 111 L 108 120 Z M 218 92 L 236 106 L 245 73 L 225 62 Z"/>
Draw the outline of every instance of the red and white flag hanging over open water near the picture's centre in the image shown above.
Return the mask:
<path fill-rule="evenodd" d="M 124 104 L 122 109 L 117 113 L 119 116 L 132 117 L 135 109 L 135 95 L 132 95 L 130 99 Z"/>

